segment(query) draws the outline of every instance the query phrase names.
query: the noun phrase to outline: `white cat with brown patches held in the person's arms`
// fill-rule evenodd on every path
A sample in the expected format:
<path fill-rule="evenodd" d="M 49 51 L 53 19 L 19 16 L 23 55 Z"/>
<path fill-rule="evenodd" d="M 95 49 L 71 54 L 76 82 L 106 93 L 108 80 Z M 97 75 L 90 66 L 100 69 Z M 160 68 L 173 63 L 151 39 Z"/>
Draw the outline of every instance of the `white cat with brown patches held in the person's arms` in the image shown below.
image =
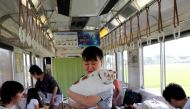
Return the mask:
<path fill-rule="evenodd" d="M 81 77 L 70 87 L 70 90 L 85 96 L 97 95 L 114 89 L 113 81 L 115 79 L 115 71 L 100 69 Z M 69 100 L 73 102 L 73 100 Z"/>

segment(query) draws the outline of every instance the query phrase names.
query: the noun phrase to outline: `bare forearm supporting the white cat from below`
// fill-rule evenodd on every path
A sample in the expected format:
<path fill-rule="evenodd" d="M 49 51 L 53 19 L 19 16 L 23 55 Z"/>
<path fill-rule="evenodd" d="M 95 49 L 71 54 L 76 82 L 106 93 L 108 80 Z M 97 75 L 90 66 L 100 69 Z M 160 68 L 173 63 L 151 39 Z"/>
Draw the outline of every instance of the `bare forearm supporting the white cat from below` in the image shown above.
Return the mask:
<path fill-rule="evenodd" d="M 97 103 L 101 100 L 99 96 L 84 96 L 81 94 L 74 93 L 71 90 L 68 90 L 67 94 L 71 99 L 75 100 L 77 103 L 85 107 L 96 106 Z"/>

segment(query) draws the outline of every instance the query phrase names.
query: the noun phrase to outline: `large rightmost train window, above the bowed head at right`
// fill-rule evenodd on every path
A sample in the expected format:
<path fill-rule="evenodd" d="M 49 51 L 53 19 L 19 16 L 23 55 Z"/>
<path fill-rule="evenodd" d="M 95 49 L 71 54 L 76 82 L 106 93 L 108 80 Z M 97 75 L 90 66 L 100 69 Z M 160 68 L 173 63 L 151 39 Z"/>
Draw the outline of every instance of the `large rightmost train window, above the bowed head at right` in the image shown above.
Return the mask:
<path fill-rule="evenodd" d="M 190 95 L 190 37 L 184 37 L 165 43 L 166 84 L 180 84 Z"/>

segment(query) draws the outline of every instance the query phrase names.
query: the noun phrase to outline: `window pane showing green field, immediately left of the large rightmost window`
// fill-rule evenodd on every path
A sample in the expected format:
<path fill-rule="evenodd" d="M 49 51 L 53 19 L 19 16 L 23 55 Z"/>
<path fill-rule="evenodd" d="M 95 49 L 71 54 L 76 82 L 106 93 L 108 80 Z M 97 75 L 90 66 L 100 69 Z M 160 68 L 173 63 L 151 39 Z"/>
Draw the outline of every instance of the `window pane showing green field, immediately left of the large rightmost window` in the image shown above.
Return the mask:
<path fill-rule="evenodd" d="M 160 91 L 160 44 L 143 47 L 143 65 L 144 88 Z"/>

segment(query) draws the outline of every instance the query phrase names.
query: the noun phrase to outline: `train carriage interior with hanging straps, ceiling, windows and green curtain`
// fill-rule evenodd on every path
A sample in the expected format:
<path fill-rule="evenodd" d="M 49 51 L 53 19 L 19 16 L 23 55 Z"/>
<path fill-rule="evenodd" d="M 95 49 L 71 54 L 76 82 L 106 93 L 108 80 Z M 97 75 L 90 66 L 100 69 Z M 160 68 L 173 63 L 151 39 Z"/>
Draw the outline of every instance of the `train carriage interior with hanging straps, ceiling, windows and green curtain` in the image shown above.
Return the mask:
<path fill-rule="evenodd" d="M 85 74 L 83 49 L 98 46 L 103 68 L 117 71 L 123 97 L 132 89 L 143 101 L 167 103 L 162 92 L 171 82 L 189 96 L 189 25 L 189 0 L 1 0 L 0 86 L 16 80 L 33 87 L 29 68 L 36 64 L 66 99 Z"/>

